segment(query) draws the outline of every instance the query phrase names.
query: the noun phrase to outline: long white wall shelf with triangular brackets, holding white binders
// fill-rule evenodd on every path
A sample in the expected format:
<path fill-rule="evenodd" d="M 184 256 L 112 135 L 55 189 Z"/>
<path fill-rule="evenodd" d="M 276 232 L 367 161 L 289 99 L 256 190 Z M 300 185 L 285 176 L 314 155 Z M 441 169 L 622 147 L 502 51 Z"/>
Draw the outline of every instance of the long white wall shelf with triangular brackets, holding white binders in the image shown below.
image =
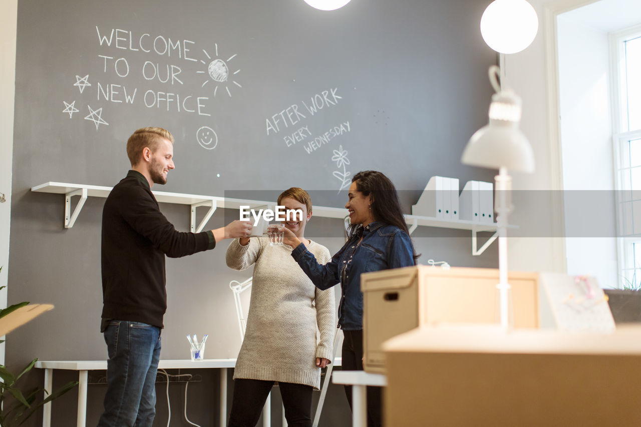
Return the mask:
<path fill-rule="evenodd" d="M 44 184 L 31 187 L 31 191 L 40 193 L 64 194 L 65 195 L 65 228 L 72 228 L 78 215 L 87 201 L 87 197 L 103 197 L 109 196 L 112 187 L 101 187 L 98 185 L 87 184 L 69 184 L 61 182 L 46 182 Z M 217 208 L 239 209 L 240 206 L 249 206 L 249 208 L 257 208 L 258 206 L 273 206 L 274 202 L 259 201 L 259 200 L 246 200 L 246 199 L 231 199 L 229 197 L 218 196 L 197 196 L 195 194 L 171 193 L 163 191 L 153 191 L 154 197 L 158 203 L 175 203 L 178 205 L 191 206 L 191 221 L 190 231 L 199 233 L 203 231 L 207 221 L 212 217 Z M 72 208 L 71 197 L 79 196 L 80 199 L 76 206 Z M 196 224 L 196 208 L 201 206 L 208 207 L 203 219 Z M 332 208 L 328 206 L 314 206 L 313 214 L 316 217 L 324 218 L 337 218 L 345 219 L 345 208 Z M 437 228 L 452 228 L 456 230 L 470 230 L 472 231 L 472 255 L 481 255 L 494 240 L 498 237 L 497 225 L 495 223 L 472 222 L 465 220 L 447 220 L 437 219 L 434 217 L 422 217 L 419 215 L 404 215 L 405 221 L 409 226 L 410 234 L 418 226 L 437 227 Z M 479 231 L 494 231 L 494 235 L 490 237 L 481 247 L 478 247 L 476 233 Z"/>

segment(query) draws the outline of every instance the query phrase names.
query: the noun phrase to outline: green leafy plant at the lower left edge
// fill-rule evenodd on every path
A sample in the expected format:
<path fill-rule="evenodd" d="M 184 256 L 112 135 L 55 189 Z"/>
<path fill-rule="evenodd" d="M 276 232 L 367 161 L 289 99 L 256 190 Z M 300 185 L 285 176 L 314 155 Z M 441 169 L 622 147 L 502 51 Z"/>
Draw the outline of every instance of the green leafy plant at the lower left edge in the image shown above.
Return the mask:
<path fill-rule="evenodd" d="M 2 267 L 0 267 L 0 271 L 1 270 Z M 0 290 L 4 288 L 4 286 L 0 287 Z M 28 304 L 29 301 L 24 301 L 22 303 L 8 306 L 7 308 L 3 308 L 0 310 L 0 318 Z M 4 340 L 0 340 L 0 344 L 2 342 L 4 342 Z M 37 358 L 31 360 L 31 362 L 18 374 L 12 374 L 8 369 L 6 369 L 5 365 L 0 365 L 0 427 L 21 425 L 31 417 L 31 415 L 35 414 L 42 405 L 62 396 L 78 385 L 78 381 L 70 381 L 60 389 L 49 394 L 49 396 L 44 399 L 42 397 L 47 392 L 40 387 L 22 390 L 19 381 L 24 374 L 31 371 L 37 360 Z"/>

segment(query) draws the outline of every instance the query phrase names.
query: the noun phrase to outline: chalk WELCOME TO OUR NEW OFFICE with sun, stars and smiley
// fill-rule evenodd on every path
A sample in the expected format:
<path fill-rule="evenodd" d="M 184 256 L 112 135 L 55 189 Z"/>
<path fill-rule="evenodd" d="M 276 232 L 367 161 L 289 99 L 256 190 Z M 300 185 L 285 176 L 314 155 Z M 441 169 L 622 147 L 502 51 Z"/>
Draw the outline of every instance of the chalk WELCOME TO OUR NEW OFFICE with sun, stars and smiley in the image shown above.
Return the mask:
<path fill-rule="evenodd" d="M 196 74 L 188 74 L 183 71 L 183 65 L 194 67 L 193 65 L 187 65 L 186 62 L 200 62 L 205 65 L 204 71 L 197 71 L 206 73 L 208 76 L 208 80 L 201 87 L 213 81 L 216 84 L 213 91 L 214 96 L 216 96 L 219 85 L 224 85 L 229 96 L 231 96 L 231 90 L 229 90 L 228 84 L 242 88 L 242 85 L 235 80 L 235 76 L 240 72 L 240 69 L 232 72 L 229 68 L 229 62 L 237 57 L 237 54 L 229 56 L 227 60 L 222 58 L 213 58 L 212 60 L 210 54 L 202 49 L 207 59 L 205 61 L 196 58 L 195 53 L 198 52 L 198 49 L 196 49 L 196 42 L 191 40 L 177 40 L 176 38 L 165 37 L 162 34 L 137 34 L 135 31 L 120 28 L 109 28 L 106 31 L 104 29 L 101 31 L 99 26 L 96 26 L 96 34 L 97 43 L 102 49 L 101 53 L 97 54 L 97 59 L 103 69 L 104 77 L 108 78 L 108 80 L 90 83 L 89 74 L 87 74 L 84 77 L 76 75 L 76 83 L 74 83 L 74 87 L 77 87 L 81 94 L 84 93 L 86 88 L 92 87 L 92 90 L 95 90 L 95 101 L 108 102 L 113 105 L 144 105 L 146 108 L 165 110 L 167 112 L 211 116 L 211 113 L 208 112 L 209 96 L 200 96 L 202 94 L 185 93 L 186 91 L 179 90 L 179 88 L 185 86 L 186 82 L 188 83 L 187 80 L 190 75 L 192 77 L 196 76 Z M 118 52 L 119 54 L 110 54 L 106 49 L 111 49 L 113 53 Z M 120 50 L 117 51 L 116 49 Z M 147 59 L 140 60 L 138 57 L 138 60 L 136 58 L 131 60 L 126 54 L 123 54 L 123 51 L 136 56 L 147 55 Z M 215 52 L 216 56 L 218 56 L 218 44 L 215 44 Z M 163 58 L 167 62 L 163 62 Z M 179 61 L 183 61 L 181 63 L 183 65 L 178 65 Z M 189 71 L 194 72 L 195 70 Z M 139 87 L 141 81 L 162 83 L 167 88 L 172 88 L 158 90 L 156 88 Z M 128 82 L 135 83 L 126 84 Z M 75 106 L 76 101 L 71 104 L 66 101 L 63 101 L 63 103 L 65 105 L 63 112 L 69 113 L 69 118 L 71 119 L 73 113 L 79 111 Z M 102 117 L 102 106 L 96 110 L 89 105 L 87 105 L 87 108 L 89 114 L 85 119 L 94 122 L 96 130 L 101 124 L 108 125 Z M 203 133 L 205 130 L 208 130 L 206 135 Z M 199 130 L 197 140 L 206 149 L 213 149 L 217 144 L 215 132 L 206 126 Z"/>

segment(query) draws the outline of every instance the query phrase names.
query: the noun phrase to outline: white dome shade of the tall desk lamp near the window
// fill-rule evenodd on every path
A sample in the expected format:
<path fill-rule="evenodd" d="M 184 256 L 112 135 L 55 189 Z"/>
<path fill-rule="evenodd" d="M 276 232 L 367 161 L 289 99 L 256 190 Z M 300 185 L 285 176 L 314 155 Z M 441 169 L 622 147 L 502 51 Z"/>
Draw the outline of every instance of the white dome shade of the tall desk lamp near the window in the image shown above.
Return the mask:
<path fill-rule="evenodd" d="M 534 153 L 528 138 L 509 122 L 490 120 L 472 135 L 461 161 L 466 165 L 534 172 Z"/>

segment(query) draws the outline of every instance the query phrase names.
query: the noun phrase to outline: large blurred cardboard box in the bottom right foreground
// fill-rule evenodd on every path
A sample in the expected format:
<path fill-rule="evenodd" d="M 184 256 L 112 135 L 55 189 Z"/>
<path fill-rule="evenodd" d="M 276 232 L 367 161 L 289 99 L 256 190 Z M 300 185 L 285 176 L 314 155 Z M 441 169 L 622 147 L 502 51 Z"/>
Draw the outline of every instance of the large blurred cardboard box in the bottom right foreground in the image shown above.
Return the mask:
<path fill-rule="evenodd" d="M 384 346 L 385 426 L 641 425 L 639 326 L 611 334 L 438 326 Z"/>

